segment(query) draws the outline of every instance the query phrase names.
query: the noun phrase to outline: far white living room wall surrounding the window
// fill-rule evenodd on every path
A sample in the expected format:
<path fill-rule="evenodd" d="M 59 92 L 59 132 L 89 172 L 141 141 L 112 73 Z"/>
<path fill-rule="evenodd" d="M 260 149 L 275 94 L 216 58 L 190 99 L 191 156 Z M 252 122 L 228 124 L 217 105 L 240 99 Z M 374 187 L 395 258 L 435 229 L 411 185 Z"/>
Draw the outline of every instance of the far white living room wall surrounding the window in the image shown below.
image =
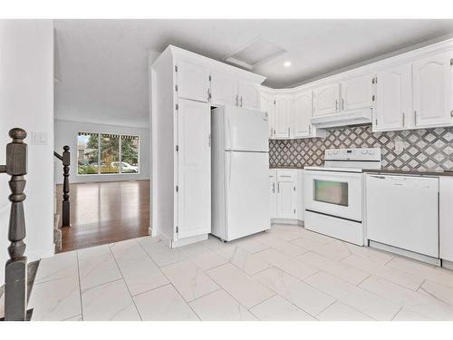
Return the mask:
<path fill-rule="evenodd" d="M 70 183 L 99 182 L 116 180 L 149 180 L 149 128 L 134 128 L 117 125 L 104 125 L 91 122 L 80 121 L 60 121 L 55 120 L 55 151 L 62 154 L 63 146 L 69 145 L 71 148 L 71 169 Z M 79 132 L 106 132 L 118 134 L 133 134 L 140 138 L 140 173 L 138 174 L 118 174 L 118 175 L 77 175 L 77 135 Z M 63 166 L 60 160 L 54 159 L 55 182 L 63 183 Z"/>

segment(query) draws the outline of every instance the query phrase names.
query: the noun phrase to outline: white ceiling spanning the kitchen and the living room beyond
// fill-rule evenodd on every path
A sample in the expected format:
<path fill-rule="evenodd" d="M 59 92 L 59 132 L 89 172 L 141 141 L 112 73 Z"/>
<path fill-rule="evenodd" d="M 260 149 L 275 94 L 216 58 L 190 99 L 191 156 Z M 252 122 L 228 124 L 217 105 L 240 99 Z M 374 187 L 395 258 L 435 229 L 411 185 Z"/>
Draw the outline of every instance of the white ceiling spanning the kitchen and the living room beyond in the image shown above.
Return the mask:
<path fill-rule="evenodd" d="M 168 44 L 223 61 L 258 36 L 287 53 L 255 73 L 279 88 L 453 33 L 453 20 L 55 20 L 57 119 L 148 124 L 148 53 Z M 292 66 L 284 68 L 290 61 Z"/>

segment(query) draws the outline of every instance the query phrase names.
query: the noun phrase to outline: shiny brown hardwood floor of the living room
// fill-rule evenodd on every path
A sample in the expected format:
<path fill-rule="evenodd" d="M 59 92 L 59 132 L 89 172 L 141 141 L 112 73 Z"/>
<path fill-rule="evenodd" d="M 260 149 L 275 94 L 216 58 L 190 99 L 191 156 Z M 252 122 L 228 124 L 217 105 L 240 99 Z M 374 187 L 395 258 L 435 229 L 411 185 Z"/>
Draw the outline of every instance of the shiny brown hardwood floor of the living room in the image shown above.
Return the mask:
<path fill-rule="evenodd" d="M 71 184 L 70 189 L 72 227 L 62 228 L 61 252 L 148 235 L 149 180 Z M 58 185 L 58 198 L 62 190 Z"/>

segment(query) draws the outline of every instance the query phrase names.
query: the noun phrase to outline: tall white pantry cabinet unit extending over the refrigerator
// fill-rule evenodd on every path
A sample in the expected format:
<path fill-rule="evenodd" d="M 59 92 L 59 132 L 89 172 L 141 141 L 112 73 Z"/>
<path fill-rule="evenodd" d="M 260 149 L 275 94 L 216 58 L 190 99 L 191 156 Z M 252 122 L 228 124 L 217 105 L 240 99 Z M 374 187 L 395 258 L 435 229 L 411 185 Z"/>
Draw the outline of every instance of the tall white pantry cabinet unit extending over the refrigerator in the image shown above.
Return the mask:
<path fill-rule="evenodd" d="M 265 77 L 172 45 L 149 75 L 152 235 L 175 248 L 211 231 L 211 107 L 259 109 Z"/>

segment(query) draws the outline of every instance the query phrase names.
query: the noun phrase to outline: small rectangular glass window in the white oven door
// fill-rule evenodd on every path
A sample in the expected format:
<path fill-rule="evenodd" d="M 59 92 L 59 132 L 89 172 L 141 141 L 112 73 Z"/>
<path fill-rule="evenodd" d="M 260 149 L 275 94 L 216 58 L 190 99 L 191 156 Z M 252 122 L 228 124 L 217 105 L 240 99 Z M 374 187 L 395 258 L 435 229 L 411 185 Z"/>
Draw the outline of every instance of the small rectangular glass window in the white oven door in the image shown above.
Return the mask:
<path fill-rule="evenodd" d="M 319 202 L 348 206 L 348 183 L 333 180 L 313 180 L 313 199 Z"/>

